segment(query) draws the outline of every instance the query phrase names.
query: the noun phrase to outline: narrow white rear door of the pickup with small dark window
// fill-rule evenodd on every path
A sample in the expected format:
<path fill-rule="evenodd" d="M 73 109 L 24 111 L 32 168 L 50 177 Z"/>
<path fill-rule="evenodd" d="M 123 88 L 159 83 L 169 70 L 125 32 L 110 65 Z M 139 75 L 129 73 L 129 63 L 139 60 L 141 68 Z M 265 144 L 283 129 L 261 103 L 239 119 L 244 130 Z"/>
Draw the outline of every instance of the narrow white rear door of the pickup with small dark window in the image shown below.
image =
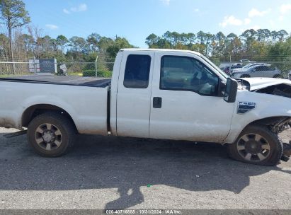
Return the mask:
<path fill-rule="evenodd" d="M 149 137 L 154 52 L 125 52 L 118 80 L 118 136 Z"/>

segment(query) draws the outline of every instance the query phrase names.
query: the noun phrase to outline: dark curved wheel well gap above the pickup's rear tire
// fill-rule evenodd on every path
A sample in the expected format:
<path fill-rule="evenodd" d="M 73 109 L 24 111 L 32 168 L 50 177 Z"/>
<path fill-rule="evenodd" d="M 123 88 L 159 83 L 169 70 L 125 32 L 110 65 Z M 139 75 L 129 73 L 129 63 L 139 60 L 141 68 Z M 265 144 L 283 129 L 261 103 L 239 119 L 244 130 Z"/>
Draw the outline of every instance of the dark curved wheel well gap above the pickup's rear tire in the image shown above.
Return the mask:
<path fill-rule="evenodd" d="M 59 108 L 58 106 L 51 104 L 31 105 L 30 107 L 26 108 L 21 116 L 21 126 L 28 127 L 28 124 L 31 122 L 31 120 L 33 120 L 34 117 L 44 112 L 58 112 L 59 114 L 64 115 L 69 120 L 71 120 L 71 122 L 74 124 L 74 128 L 76 129 L 76 124 L 71 115 L 69 115 L 69 113 L 63 108 Z"/>

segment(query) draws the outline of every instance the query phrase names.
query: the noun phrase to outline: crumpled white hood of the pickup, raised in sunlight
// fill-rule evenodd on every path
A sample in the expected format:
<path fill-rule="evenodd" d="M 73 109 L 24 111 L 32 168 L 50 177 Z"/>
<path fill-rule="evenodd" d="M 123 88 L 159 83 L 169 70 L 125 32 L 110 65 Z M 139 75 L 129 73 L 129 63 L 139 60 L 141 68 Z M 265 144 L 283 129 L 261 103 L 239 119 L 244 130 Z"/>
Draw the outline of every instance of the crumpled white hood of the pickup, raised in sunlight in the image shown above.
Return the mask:
<path fill-rule="evenodd" d="M 288 79 L 273 79 L 273 78 L 245 78 L 244 81 L 249 82 L 250 91 L 256 91 L 261 88 L 266 88 L 268 86 L 278 85 L 285 83 L 291 86 L 291 81 Z"/>

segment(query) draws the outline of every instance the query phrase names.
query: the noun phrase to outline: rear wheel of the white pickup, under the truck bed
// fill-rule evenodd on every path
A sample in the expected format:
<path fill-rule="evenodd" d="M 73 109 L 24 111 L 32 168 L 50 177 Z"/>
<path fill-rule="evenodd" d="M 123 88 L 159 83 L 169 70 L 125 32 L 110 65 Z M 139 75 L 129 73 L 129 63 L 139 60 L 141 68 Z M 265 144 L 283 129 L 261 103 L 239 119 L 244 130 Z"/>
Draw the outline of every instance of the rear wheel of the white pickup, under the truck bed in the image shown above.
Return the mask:
<path fill-rule="evenodd" d="M 41 156 L 67 153 L 74 145 L 75 134 L 71 120 L 55 112 L 38 115 L 28 124 L 28 144 Z"/>

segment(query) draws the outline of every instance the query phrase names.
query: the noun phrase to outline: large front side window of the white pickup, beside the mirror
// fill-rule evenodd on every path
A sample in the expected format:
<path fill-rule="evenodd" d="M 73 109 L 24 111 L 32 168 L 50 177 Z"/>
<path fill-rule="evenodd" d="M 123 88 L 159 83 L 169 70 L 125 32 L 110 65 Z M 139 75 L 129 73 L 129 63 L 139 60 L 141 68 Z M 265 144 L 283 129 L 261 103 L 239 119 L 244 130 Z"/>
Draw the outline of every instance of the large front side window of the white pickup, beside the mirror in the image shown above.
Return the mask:
<path fill-rule="evenodd" d="M 160 89 L 217 95 L 218 82 L 218 76 L 197 59 L 178 56 L 161 58 Z"/>

